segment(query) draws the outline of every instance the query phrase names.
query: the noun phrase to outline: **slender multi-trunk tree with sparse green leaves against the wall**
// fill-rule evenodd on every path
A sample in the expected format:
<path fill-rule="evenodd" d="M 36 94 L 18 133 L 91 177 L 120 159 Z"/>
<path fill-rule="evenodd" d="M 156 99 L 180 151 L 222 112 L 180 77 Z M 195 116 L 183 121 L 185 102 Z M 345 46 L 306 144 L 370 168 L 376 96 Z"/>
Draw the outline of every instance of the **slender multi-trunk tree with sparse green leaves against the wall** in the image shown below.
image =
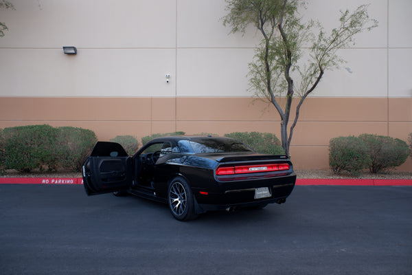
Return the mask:
<path fill-rule="evenodd" d="M 356 34 L 376 28 L 378 22 L 369 19 L 368 6 L 361 5 L 352 13 L 349 10 L 341 12 L 340 25 L 327 34 L 317 21 L 302 22 L 299 10 L 306 8 L 302 0 L 226 2 L 228 13 L 223 24 L 231 27 L 231 33 L 244 34 L 247 26 L 253 25 L 262 34 L 253 61 L 249 63 L 249 89 L 255 96 L 273 104 L 279 113 L 282 146 L 289 155 L 293 130 L 304 100 L 317 87 L 326 70 L 344 63 L 337 51 L 354 43 Z M 308 45 L 308 49 L 304 50 L 303 45 Z M 304 56 L 307 61 L 303 61 Z M 300 100 L 295 120 L 288 129 L 294 96 L 299 96 Z"/>

